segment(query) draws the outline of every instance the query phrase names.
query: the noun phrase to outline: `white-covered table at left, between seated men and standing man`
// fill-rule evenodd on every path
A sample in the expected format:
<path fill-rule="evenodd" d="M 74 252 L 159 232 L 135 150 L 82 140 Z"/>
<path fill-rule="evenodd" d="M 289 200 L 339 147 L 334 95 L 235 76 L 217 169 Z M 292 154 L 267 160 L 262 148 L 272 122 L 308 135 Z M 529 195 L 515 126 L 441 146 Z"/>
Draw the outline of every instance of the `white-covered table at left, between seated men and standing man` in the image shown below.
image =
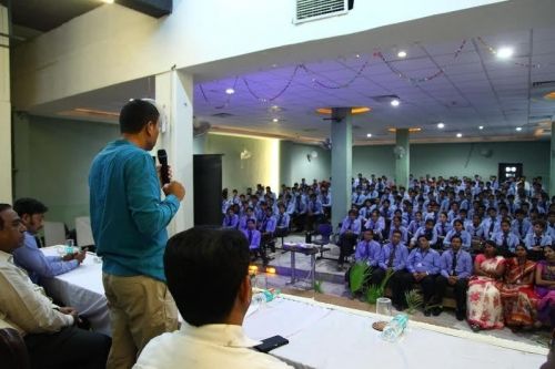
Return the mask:
<path fill-rule="evenodd" d="M 44 255 L 59 256 L 57 246 L 41 248 Z M 110 316 L 102 286 L 102 264 L 88 253 L 75 269 L 53 278 L 41 279 L 48 295 L 65 306 L 74 307 L 91 322 L 91 328 L 110 336 Z"/>

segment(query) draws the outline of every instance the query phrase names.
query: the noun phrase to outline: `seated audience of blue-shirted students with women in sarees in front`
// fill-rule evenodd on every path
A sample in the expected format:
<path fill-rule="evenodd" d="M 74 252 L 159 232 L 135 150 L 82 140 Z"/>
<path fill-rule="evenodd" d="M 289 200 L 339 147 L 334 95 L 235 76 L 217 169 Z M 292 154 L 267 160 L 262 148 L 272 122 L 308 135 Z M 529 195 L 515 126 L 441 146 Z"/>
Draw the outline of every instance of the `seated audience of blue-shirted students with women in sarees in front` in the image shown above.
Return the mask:
<path fill-rule="evenodd" d="M 456 317 L 464 319 L 466 316 L 476 330 L 500 328 L 505 324 L 514 328 L 533 327 L 538 324 L 531 324 L 535 320 L 536 301 L 537 315 L 546 311 L 543 321 L 551 324 L 546 318 L 552 314 L 551 297 L 542 297 L 549 296 L 552 276 L 546 271 L 549 270 L 548 263 L 544 260 L 534 268 L 532 260 L 555 255 L 552 248 L 555 203 L 552 204 L 543 191 L 539 178 L 535 178 L 532 185 L 526 186 L 526 183 L 524 177 L 507 178 L 502 183 L 495 176 L 490 181 L 483 181 L 478 175 L 462 178 L 427 176 L 412 177 L 410 186 L 404 188 L 385 176 L 365 178 L 361 173 L 352 181 L 353 206 L 341 223 L 336 238 L 339 269 L 344 269 L 347 256 L 355 250 L 355 262 L 365 262 L 373 267 L 373 284 L 379 284 L 386 270 L 391 270 L 393 275 L 389 285 L 398 308 L 406 305 L 404 291 L 423 280 L 420 284 L 425 285 L 424 298 L 432 307 L 425 309 L 426 314 L 440 314 L 446 289 L 453 288 Z M 289 234 L 289 224 L 294 230 L 312 230 L 319 223 L 329 222 L 332 207 L 329 182 L 314 180 L 311 185 L 306 181 L 292 187 L 282 185 L 275 202 L 275 195 L 269 195 L 268 189 L 264 193 L 262 186 L 256 188 L 255 193 L 248 188 L 246 195 L 239 195 L 243 199 L 238 214 L 241 229 L 246 228 L 249 218 L 254 218 L 261 229 L 264 214 L 275 218 L 274 237 Z M 230 206 L 234 205 L 236 191 L 228 199 Z M 250 211 L 249 206 L 252 207 Z M 373 240 L 366 243 L 369 237 Z M 484 243 L 487 243 L 485 247 Z M 408 255 L 405 245 L 411 249 L 418 247 Z M 423 245 L 430 245 L 438 254 L 424 252 L 422 247 L 426 247 Z M 483 254 L 476 255 L 478 253 Z M 526 264 L 522 264 L 523 253 L 529 259 Z M 422 257 L 423 254 L 426 256 Z M 418 263 L 418 257 L 432 262 Z M 434 259 L 437 265 L 434 265 Z M 526 278 L 518 277 L 523 270 L 516 265 L 525 266 Z M 433 283 L 428 283 L 432 278 L 424 277 L 424 270 L 418 270 L 422 268 L 428 273 L 426 278 L 434 276 Z M 529 268 L 541 270 L 532 281 L 528 281 Z M 542 296 L 536 295 L 539 291 Z"/>

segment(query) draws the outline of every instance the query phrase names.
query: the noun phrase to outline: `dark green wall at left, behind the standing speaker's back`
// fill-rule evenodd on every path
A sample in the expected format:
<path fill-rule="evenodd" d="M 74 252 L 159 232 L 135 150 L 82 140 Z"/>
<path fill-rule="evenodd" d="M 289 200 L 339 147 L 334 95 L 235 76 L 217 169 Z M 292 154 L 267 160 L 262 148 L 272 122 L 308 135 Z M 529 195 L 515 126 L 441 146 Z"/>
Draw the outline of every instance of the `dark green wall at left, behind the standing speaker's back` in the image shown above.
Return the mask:
<path fill-rule="evenodd" d="M 14 119 L 14 198 L 34 197 L 48 221 L 73 227 L 89 215 L 88 175 L 94 155 L 119 137 L 114 124 L 19 116 Z"/>

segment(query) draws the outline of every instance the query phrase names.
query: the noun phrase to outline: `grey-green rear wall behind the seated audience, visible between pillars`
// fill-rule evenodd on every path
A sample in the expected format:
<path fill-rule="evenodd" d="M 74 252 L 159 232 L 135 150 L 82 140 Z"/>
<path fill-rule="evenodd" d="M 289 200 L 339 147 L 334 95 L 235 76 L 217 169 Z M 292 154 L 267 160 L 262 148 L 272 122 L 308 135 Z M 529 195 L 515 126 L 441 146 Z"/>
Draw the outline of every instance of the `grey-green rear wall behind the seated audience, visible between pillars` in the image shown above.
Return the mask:
<path fill-rule="evenodd" d="M 302 177 L 323 180 L 330 176 L 330 152 L 316 146 L 282 142 L 281 144 L 281 181 L 292 184 Z M 319 157 L 311 163 L 306 154 L 312 150 Z M 415 176 L 431 175 L 468 175 L 490 176 L 497 174 L 501 162 L 523 163 L 527 177 L 543 176 L 548 185 L 549 180 L 549 142 L 493 142 L 493 143 L 441 143 L 412 144 L 411 173 Z M 286 154 L 289 153 L 289 154 Z M 393 145 L 355 146 L 353 147 L 353 176 L 363 173 L 386 175 L 393 178 L 395 158 Z"/>

